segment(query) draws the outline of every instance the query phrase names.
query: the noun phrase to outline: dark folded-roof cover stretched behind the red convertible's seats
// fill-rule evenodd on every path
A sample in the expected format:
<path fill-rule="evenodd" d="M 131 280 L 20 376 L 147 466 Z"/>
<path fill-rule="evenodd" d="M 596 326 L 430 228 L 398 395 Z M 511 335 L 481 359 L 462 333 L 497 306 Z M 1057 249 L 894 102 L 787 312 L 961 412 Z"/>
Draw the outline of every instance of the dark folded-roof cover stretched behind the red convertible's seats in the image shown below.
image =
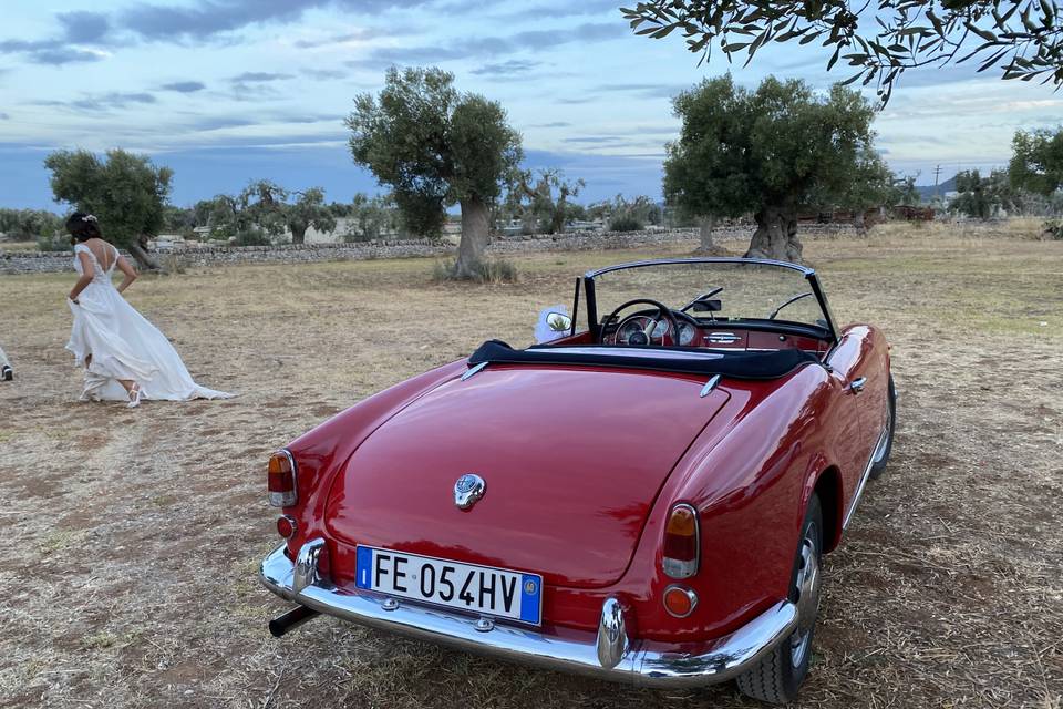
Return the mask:
<path fill-rule="evenodd" d="M 819 360 L 796 349 L 768 352 L 704 352 L 680 348 L 633 348 L 615 345 L 536 346 L 516 350 L 502 340 L 487 340 L 468 358 L 468 366 L 576 364 L 649 369 L 687 374 L 720 374 L 732 379 L 777 379 Z"/>

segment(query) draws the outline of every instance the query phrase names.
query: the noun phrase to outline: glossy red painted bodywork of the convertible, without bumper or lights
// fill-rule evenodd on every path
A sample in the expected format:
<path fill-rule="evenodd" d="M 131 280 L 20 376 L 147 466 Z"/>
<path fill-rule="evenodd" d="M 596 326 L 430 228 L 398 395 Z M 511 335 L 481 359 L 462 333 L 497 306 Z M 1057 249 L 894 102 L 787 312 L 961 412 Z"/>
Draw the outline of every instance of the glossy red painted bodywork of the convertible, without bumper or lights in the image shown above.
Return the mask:
<path fill-rule="evenodd" d="M 570 338 L 586 341 L 586 333 Z M 777 338 L 776 338 L 777 340 Z M 784 347 L 786 345 L 778 345 Z M 544 576 L 547 627 L 590 630 L 623 598 L 637 637 L 719 637 L 787 597 L 809 495 L 833 548 L 886 415 L 881 333 L 850 326 L 824 358 L 781 379 L 464 361 L 381 392 L 295 441 L 299 501 L 289 556 L 323 537 L 337 584 L 368 544 Z M 866 379 L 863 393 L 849 384 Z M 616 454 L 610 456 L 609 453 Z M 455 508 L 454 480 L 488 493 Z M 700 513 L 700 599 L 667 614 L 661 540 L 673 504 Z"/>

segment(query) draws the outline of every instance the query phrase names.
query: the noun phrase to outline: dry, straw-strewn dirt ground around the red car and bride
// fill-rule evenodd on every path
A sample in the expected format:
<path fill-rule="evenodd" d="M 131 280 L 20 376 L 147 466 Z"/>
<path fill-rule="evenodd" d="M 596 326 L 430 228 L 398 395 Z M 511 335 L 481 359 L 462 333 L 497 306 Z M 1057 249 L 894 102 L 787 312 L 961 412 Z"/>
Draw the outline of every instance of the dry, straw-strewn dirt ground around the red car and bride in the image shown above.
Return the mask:
<path fill-rule="evenodd" d="M 18 373 L 0 382 L 0 705 L 753 706 L 730 685 L 634 690 L 328 618 L 266 629 L 286 609 L 256 576 L 278 542 L 271 450 L 484 339 L 529 342 L 577 274 L 651 255 L 529 256 L 496 286 L 433 284 L 429 260 L 145 277 L 133 305 L 200 383 L 239 397 L 135 411 L 76 402 L 72 276 L 0 277 Z M 826 559 L 799 706 L 1059 709 L 1063 242 L 887 225 L 806 259 L 839 320 L 885 329 L 899 429 Z"/>

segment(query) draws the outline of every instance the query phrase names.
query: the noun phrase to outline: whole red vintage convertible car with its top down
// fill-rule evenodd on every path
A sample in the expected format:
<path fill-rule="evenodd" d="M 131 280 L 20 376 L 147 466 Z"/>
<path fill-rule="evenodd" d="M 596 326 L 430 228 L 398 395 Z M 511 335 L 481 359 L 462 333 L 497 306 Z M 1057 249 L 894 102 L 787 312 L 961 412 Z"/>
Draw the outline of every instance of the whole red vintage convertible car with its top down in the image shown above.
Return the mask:
<path fill-rule="evenodd" d="M 816 274 L 734 258 L 576 281 L 559 337 L 492 340 L 278 451 L 298 606 L 463 650 L 659 687 L 794 698 L 822 582 L 889 458 L 889 348 Z"/>

